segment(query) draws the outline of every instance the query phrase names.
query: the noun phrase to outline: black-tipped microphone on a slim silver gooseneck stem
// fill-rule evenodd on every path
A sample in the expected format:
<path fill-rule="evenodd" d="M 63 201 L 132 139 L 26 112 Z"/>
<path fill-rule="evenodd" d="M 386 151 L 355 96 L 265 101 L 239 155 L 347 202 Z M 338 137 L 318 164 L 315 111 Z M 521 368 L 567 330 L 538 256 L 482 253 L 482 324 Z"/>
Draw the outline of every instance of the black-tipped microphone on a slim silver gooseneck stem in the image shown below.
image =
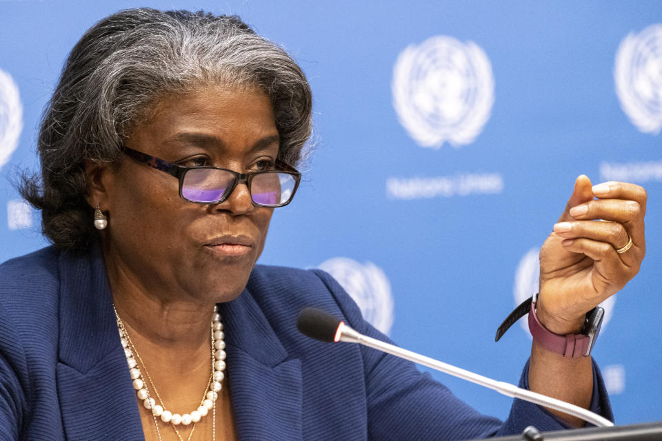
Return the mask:
<path fill-rule="evenodd" d="M 390 353 L 393 356 L 404 358 L 405 360 L 418 363 L 437 371 L 448 373 L 457 378 L 470 381 L 475 384 L 480 384 L 483 387 L 488 387 L 510 398 L 519 398 L 520 400 L 539 404 L 550 409 L 567 413 L 568 415 L 581 418 L 586 422 L 595 424 L 598 427 L 612 427 L 612 423 L 607 418 L 583 409 L 583 407 L 570 404 L 569 402 L 557 400 L 556 398 L 545 396 L 541 393 L 529 391 L 528 389 L 521 389 L 514 384 L 503 381 L 492 380 L 477 373 L 448 365 L 447 363 L 434 360 L 434 358 L 422 356 L 419 353 L 402 349 L 395 345 L 377 340 L 376 338 L 364 336 L 359 332 L 352 329 L 345 324 L 342 320 L 338 320 L 334 316 L 325 313 L 316 308 L 302 309 L 297 318 L 297 328 L 301 334 L 324 342 L 348 342 L 359 343 L 359 345 L 371 347 L 385 353 Z"/>

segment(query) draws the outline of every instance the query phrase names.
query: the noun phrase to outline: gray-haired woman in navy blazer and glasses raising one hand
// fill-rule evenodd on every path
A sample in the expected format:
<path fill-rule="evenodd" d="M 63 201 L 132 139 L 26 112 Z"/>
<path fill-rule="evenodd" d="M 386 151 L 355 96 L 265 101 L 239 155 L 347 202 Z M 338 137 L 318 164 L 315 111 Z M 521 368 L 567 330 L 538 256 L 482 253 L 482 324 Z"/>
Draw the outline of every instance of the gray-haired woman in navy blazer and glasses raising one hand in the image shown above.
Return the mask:
<path fill-rule="evenodd" d="M 310 121 L 299 67 L 236 17 L 127 10 L 83 36 L 41 125 L 42 184 L 23 189 L 54 246 L 0 267 L 1 439 L 454 440 L 581 424 L 519 401 L 502 423 L 409 363 L 298 333 L 315 306 L 384 338 L 327 274 L 255 265 Z M 576 334 L 636 274 L 644 212 L 641 187 L 578 178 L 541 251 L 544 327 Z M 522 385 L 610 417 L 590 357 L 534 342 Z"/>

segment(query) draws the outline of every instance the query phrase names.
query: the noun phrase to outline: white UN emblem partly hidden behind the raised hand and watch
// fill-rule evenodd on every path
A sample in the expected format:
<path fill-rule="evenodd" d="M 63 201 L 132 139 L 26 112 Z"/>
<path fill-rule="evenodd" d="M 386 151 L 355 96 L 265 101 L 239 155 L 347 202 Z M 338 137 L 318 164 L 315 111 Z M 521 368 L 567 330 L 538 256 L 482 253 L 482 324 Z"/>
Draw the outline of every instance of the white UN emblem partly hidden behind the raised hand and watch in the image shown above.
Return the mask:
<path fill-rule="evenodd" d="M 521 302 L 527 298 L 533 296 L 538 292 L 539 289 L 539 279 L 540 279 L 540 260 L 539 260 L 540 249 L 532 248 L 519 260 L 519 265 L 515 271 L 515 285 L 513 289 L 513 294 L 515 298 L 515 305 L 519 305 Z M 604 302 L 600 304 L 601 307 L 605 309 L 605 317 L 602 320 L 602 329 L 605 329 L 605 325 L 612 318 L 614 313 L 614 305 L 616 304 L 616 296 L 611 296 Z M 522 329 L 526 331 L 528 336 L 529 334 L 529 323 L 525 318 L 519 320 L 519 325 Z"/>

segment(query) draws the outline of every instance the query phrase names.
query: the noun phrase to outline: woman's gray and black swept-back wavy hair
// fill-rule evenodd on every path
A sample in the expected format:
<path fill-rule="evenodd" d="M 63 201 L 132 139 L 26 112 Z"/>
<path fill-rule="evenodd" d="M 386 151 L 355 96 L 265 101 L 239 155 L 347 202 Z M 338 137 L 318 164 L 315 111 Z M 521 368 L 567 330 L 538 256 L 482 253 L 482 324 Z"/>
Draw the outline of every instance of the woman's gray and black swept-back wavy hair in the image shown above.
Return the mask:
<path fill-rule="evenodd" d="M 117 161 L 123 140 L 164 96 L 201 85 L 258 87 L 270 97 L 279 158 L 296 165 L 312 127 L 301 68 L 236 16 L 130 9 L 95 24 L 74 46 L 41 120 L 41 178 L 21 194 L 41 209 L 42 232 L 61 249 L 97 234 L 85 199 L 84 161 Z"/>

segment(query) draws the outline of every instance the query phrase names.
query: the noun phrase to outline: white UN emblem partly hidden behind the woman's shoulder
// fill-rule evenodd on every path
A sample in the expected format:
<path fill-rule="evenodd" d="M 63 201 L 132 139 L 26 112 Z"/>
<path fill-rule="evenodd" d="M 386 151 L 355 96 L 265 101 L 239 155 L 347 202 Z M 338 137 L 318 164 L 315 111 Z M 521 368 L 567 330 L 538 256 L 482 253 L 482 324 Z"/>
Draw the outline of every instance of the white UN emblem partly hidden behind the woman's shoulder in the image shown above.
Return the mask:
<path fill-rule="evenodd" d="M 333 276 L 352 296 L 363 318 L 388 335 L 393 325 L 391 284 L 381 268 L 374 263 L 363 264 L 346 257 L 334 257 L 319 265 Z"/>

